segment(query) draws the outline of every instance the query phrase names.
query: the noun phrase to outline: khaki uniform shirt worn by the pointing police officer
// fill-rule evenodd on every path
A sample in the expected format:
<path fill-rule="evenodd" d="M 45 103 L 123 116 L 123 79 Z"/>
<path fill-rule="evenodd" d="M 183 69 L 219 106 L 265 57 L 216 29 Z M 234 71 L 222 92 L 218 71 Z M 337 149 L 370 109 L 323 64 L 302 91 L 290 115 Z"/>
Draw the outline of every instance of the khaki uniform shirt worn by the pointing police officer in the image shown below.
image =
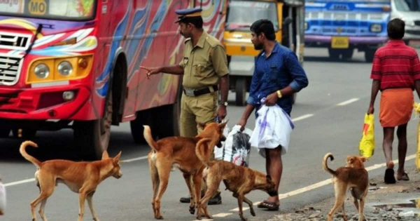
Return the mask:
<path fill-rule="evenodd" d="M 229 74 L 225 48 L 207 32 L 203 32 L 195 47 L 191 39 L 186 39 L 183 54 L 179 65 L 184 69 L 184 88 L 200 89 L 217 85 L 221 76 Z"/>

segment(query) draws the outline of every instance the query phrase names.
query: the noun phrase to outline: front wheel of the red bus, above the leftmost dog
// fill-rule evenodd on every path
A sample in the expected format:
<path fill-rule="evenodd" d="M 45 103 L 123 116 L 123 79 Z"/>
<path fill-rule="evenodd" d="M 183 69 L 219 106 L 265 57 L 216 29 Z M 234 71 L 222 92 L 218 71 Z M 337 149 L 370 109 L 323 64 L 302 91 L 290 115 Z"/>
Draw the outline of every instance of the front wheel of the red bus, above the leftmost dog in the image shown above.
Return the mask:
<path fill-rule="evenodd" d="M 74 121 L 74 138 L 80 147 L 80 153 L 88 160 L 99 160 L 102 152 L 109 147 L 112 123 L 112 93 L 105 102 L 104 116 L 93 121 Z"/>

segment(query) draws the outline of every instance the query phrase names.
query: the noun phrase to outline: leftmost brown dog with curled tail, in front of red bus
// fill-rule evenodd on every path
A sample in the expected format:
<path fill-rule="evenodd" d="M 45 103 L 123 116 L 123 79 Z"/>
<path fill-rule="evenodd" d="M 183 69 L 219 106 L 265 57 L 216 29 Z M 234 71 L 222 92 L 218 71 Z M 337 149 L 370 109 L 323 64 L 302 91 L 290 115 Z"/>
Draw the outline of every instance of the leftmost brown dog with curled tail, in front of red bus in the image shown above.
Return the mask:
<path fill-rule="evenodd" d="M 119 179 L 123 176 L 119 163 L 121 152 L 114 158 L 109 158 L 108 152 L 104 151 L 102 160 L 93 162 L 73 162 L 66 160 L 41 162 L 35 159 L 34 156 L 27 154 L 26 147 L 28 145 L 31 147 L 38 147 L 38 145 L 31 141 L 22 142 L 22 145 L 20 145 L 20 154 L 31 163 L 34 163 L 36 168 L 38 168 L 35 173 L 35 179 L 40 194 L 38 198 L 31 202 L 32 220 L 36 220 L 35 208 L 39 203 L 41 203 L 39 215 L 41 215 L 42 220 L 47 220 L 44 213 L 45 203 L 52 192 L 54 192 L 57 182 L 62 182 L 71 191 L 79 194 L 78 221 L 83 220 L 86 199 L 93 220 L 99 221 L 92 206 L 92 196 L 99 183 L 106 178 L 113 176 Z"/>

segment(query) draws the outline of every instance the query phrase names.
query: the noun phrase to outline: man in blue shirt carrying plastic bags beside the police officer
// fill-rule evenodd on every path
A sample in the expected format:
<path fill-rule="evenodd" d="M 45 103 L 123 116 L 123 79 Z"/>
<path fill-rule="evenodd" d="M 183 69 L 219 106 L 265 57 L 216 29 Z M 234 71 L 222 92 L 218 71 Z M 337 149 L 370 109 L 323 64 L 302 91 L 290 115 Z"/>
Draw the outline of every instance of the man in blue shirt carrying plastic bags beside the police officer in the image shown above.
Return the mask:
<path fill-rule="evenodd" d="M 254 109 L 261 105 L 279 105 L 290 115 L 293 105 L 293 93 L 308 85 L 307 76 L 293 51 L 275 41 L 274 25 L 269 20 L 258 20 L 251 25 L 251 41 L 261 53 L 255 58 L 249 97 L 244 114 L 239 120 L 242 129 Z M 265 98 L 262 103 L 262 98 Z M 256 114 L 256 111 L 255 111 Z M 281 146 L 265 149 L 265 167 L 279 189 L 283 163 L 281 162 Z M 279 210 L 279 196 L 270 196 L 258 207 Z"/>

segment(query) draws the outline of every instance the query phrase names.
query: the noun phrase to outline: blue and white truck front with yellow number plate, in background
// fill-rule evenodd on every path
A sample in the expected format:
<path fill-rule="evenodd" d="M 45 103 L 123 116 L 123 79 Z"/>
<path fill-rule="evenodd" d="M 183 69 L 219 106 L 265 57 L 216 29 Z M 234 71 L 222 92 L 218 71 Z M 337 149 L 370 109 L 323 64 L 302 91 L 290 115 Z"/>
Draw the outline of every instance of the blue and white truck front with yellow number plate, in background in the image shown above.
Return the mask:
<path fill-rule="evenodd" d="M 390 18 L 390 0 L 306 0 L 304 42 L 328 48 L 332 60 L 351 59 L 357 49 L 372 62 L 377 48 L 388 41 Z"/>

